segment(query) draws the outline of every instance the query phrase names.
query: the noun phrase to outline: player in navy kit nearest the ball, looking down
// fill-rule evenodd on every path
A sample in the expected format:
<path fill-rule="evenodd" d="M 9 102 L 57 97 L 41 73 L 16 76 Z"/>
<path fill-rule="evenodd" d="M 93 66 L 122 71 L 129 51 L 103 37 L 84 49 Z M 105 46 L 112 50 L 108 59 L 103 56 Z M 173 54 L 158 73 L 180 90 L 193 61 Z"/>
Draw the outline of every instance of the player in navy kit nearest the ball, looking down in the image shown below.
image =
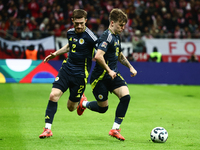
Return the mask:
<path fill-rule="evenodd" d="M 109 15 L 109 28 L 104 31 L 98 41 L 98 50 L 95 55 L 97 61 L 91 74 L 91 86 L 97 101 L 81 99 L 78 107 L 78 115 L 82 115 L 86 108 L 99 113 L 105 113 L 108 109 L 108 92 L 114 93 L 119 98 L 116 108 L 115 120 L 109 135 L 124 141 L 120 134 L 120 125 L 128 109 L 130 94 L 127 84 L 118 72 L 117 62 L 119 61 L 130 69 L 131 76 L 137 71 L 129 63 L 121 50 L 119 34 L 127 23 L 127 15 L 120 9 L 113 9 Z"/>

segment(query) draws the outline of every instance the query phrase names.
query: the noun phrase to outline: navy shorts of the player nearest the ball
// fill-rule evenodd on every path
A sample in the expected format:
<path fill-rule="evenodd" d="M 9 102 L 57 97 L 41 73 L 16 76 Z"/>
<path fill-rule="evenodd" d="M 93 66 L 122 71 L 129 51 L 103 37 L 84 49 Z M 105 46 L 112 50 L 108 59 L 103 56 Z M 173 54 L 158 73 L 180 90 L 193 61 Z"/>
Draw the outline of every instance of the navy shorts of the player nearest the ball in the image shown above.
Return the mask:
<path fill-rule="evenodd" d="M 113 90 L 121 86 L 127 86 L 127 84 L 119 73 L 113 80 L 99 80 L 93 89 L 94 97 L 97 101 L 106 101 L 108 99 L 108 92 L 112 93 Z"/>

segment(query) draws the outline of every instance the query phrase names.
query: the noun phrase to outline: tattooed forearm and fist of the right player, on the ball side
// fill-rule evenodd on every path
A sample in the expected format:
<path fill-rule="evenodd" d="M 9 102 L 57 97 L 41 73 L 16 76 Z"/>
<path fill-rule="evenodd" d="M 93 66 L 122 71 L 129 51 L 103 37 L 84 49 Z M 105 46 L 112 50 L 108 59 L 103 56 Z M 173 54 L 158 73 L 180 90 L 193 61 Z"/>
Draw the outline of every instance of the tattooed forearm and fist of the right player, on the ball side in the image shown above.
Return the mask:
<path fill-rule="evenodd" d="M 131 72 L 131 77 L 134 77 L 136 76 L 137 74 L 137 71 L 135 70 L 135 68 L 130 64 L 130 62 L 126 59 L 126 57 L 124 56 L 124 54 L 122 52 L 119 53 L 119 56 L 118 56 L 118 60 L 119 62 L 128 67 L 130 69 L 130 72 Z"/>

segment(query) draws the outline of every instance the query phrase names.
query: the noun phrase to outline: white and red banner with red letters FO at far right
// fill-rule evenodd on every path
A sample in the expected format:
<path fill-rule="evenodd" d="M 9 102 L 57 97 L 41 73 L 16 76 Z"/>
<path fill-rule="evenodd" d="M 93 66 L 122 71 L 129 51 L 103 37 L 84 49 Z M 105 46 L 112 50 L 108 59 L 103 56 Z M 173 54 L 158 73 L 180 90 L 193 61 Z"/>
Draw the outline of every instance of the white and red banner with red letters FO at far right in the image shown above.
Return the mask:
<path fill-rule="evenodd" d="M 192 54 L 200 60 L 200 40 L 197 39 L 150 39 L 145 43 L 147 53 L 157 47 L 164 62 L 186 62 Z"/>

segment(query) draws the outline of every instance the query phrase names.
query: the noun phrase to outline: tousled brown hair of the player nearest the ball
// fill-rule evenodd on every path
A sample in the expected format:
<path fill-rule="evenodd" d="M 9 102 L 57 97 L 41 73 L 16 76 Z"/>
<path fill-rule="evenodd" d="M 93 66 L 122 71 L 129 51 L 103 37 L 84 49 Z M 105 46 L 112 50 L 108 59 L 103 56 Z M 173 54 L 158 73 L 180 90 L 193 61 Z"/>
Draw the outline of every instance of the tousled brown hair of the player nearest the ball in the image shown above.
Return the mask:
<path fill-rule="evenodd" d="M 121 22 L 122 23 L 127 23 L 128 22 L 128 17 L 121 9 L 114 8 L 110 12 L 109 21 L 114 21 L 114 22 L 119 21 L 120 23 Z"/>

